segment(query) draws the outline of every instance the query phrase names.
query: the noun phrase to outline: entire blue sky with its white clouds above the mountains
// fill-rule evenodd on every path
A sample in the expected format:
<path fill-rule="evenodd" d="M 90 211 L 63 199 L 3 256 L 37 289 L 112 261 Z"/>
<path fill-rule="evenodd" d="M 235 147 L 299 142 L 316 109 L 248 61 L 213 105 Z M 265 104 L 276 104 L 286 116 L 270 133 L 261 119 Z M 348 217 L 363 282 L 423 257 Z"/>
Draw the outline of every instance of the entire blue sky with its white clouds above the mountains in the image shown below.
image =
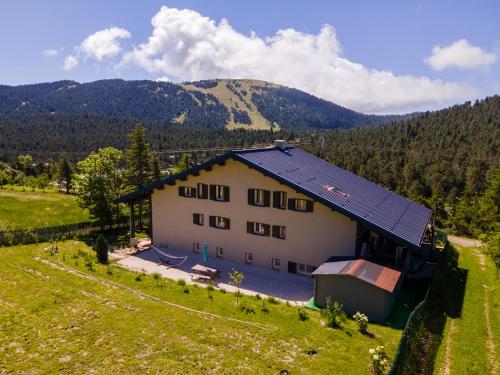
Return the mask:
<path fill-rule="evenodd" d="M 433 109 L 500 93 L 499 17 L 494 0 L 3 0 L 0 83 L 257 78 L 364 112 Z"/>

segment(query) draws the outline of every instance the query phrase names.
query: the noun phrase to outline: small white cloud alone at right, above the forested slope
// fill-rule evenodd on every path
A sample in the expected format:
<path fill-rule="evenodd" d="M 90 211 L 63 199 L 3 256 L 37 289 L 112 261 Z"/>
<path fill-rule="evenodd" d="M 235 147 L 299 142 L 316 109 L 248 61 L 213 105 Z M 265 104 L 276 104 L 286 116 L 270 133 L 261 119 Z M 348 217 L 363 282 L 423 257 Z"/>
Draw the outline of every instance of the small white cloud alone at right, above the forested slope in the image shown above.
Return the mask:
<path fill-rule="evenodd" d="M 465 39 L 459 39 L 449 46 L 436 46 L 425 59 L 434 70 L 446 68 L 473 69 L 489 66 L 496 61 L 494 53 L 488 53 L 473 46 Z"/>

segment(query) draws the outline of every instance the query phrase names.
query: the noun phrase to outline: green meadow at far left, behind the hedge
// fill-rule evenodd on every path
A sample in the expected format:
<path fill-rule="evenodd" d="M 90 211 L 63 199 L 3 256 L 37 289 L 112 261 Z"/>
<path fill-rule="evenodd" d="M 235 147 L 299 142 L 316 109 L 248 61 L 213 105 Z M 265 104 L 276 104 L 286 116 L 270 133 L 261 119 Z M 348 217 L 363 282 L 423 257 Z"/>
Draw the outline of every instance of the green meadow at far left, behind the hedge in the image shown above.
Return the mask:
<path fill-rule="evenodd" d="M 0 230 L 49 227 L 89 221 L 72 195 L 54 191 L 0 190 Z"/>

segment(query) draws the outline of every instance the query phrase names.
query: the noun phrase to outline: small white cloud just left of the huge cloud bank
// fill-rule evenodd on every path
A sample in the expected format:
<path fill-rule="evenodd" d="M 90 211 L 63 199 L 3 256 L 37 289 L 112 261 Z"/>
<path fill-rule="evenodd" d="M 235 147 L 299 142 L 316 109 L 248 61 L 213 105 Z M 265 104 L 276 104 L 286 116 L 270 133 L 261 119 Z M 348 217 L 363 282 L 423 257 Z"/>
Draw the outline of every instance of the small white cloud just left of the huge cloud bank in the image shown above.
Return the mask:
<path fill-rule="evenodd" d="M 102 61 L 105 58 L 114 57 L 122 51 L 120 39 L 128 38 L 130 38 L 130 33 L 119 27 L 97 31 L 85 38 L 78 47 L 75 47 L 75 52 L 66 57 L 64 69 L 73 69 L 82 58 Z"/>

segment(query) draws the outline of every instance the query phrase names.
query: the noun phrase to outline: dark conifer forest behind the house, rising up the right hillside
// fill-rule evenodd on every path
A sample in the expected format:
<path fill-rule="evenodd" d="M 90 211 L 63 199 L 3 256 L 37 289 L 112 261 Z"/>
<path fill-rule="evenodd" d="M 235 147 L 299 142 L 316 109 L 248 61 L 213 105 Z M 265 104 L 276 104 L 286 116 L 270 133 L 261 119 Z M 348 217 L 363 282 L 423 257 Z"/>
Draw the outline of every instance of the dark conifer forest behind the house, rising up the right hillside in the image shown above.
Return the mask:
<path fill-rule="evenodd" d="M 102 147 L 125 149 L 134 124 L 90 115 L 3 117 L 0 170 L 10 165 L 51 177 L 50 166 L 62 153 L 75 163 Z M 179 161 L 179 150 L 188 149 L 196 163 L 223 152 L 220 148 L 286 139 L 432 208 L 439 227 L 474 237 L 499 231 L 499 96 L 355 129 L 228 131 L 156 122 L 144 127 L 162 170 Z M 34 166 L 22 165 L 19 156 L 25 154 Z"/>

